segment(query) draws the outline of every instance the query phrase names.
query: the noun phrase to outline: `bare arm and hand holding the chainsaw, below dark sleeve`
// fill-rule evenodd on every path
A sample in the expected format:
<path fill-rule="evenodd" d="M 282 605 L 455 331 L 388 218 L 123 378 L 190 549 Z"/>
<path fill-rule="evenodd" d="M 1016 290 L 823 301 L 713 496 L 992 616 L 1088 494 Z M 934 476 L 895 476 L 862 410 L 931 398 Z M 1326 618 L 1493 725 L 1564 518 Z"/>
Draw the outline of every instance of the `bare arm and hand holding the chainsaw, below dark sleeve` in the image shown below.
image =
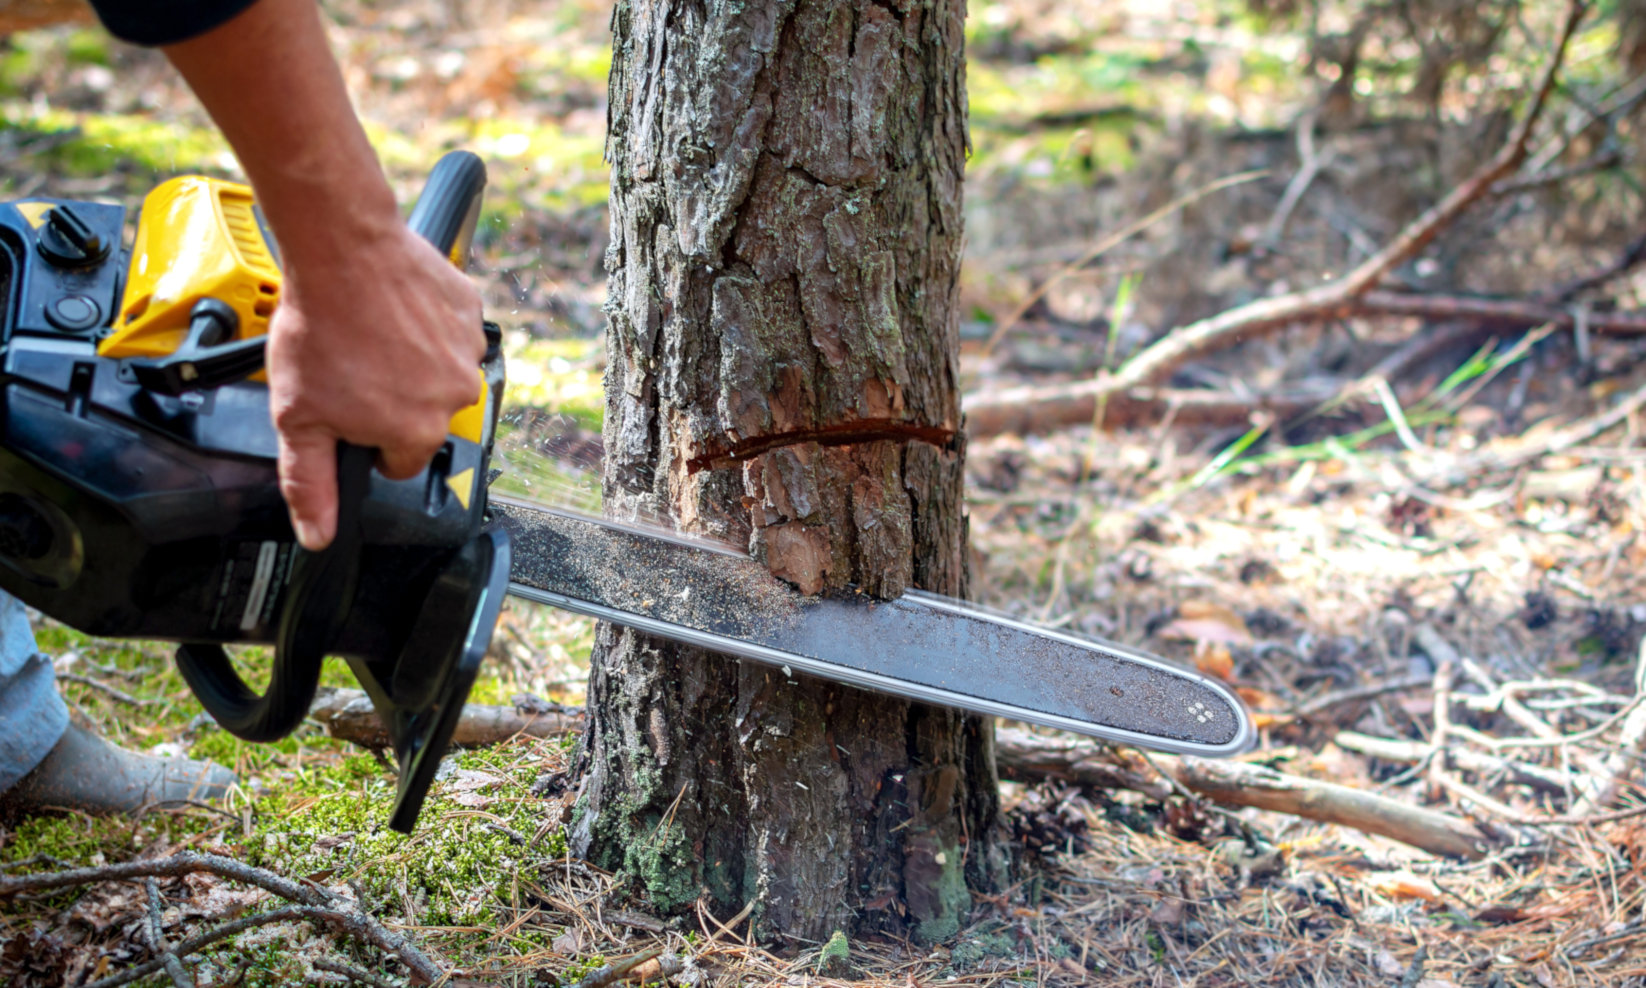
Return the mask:
<path fill-rule="evenodd" d="M 280 491 L 305 548 L 337 525 L 337 440 L 418 473 L 481 392 L 474 287 L 407 229 L 314 0 L 257 0 L 168 44 L 234 147 L 280 242 L 285 287 L 268 328 Z"/>

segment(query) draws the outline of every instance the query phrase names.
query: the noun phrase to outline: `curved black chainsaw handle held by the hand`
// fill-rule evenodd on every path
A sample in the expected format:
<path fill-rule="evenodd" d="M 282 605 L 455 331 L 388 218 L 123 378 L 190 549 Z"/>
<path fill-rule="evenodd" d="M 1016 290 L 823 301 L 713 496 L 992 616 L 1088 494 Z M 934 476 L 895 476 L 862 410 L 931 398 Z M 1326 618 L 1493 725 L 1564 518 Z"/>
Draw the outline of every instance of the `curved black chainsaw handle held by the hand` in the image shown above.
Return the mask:
<path fill-rule="evenodd" d="M 469 151 L 451 151 L 430 171 L 407 226 L 461 267 L 469 257 L 484 191 L 486 163 Z M 258 336 L 257 343 L 262 344 L 263 339 Z M 245 343 L 221 347 L 244 349 Z M 196 361 L 209 362 L 211 349 L 217 347 L 198 351 Z M 258 370 L 260 364 L 258 359 L 258 366 L 240 377 Z M 222 645 L 178 647 L 178 670 L 201 706 L 237 738 L 278 741 L 308 716 L 319 687 L 321 664 L 342 629 L 359 585 L 364 542 L 360 507 L 375 461 L 377 450 L 337 443 L 337 534 L 324 550 L 301 552 L 293 565 L 275 641 L 273 669 L 263 693 L 240 678 Z"/>

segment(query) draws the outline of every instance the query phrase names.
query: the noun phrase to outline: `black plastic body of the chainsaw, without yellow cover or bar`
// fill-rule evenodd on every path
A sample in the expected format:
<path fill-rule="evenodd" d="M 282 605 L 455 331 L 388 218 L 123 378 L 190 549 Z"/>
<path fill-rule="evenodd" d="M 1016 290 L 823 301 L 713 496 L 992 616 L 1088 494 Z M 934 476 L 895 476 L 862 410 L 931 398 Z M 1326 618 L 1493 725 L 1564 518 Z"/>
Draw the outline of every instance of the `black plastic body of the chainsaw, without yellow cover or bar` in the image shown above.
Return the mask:
<path fill-rule="evenodd" d="M 454 168 L 477 198 L 479 161 L 448 158 L 436 178 L 449 186 Z M 280 496 L 268 389 L 244 379 L 260 369 L 245 366 L 244 341 L 229 344 L 242 351 L 229 380 L 206 387 L 178 387 L 165 361 L 99 356 L 127 270 L 123 226 L 119 206 L 0 204 L 0 588 L 87 634 L 181 642 L 202 703 L 255 741 L 290 733 L 321 659 L 346 657 L 395 739 L 392 825 L 410 830 L 507 588 L 507 537 L 484 517 L 504 392 L 495 328 L 479 441 L 448 436 L 407 481 L 341 446 L 337 538 L 308 553 Z M 219 351 L 191 352 L 207 367 Z M 265 695 L 240 683 L 230 644 L 277 649 Z"/>

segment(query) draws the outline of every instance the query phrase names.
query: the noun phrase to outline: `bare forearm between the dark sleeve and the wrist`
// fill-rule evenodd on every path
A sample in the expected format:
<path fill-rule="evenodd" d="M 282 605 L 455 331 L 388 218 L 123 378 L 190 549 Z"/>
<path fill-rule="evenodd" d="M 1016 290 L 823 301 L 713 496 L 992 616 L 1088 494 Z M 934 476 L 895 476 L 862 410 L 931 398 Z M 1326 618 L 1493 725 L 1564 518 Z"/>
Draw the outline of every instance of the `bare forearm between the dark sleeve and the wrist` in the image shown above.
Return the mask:
<path fill-rule="evenodd" d="M 314 0 L 257 0 L 163 51 L 240 158 L 288 260 L 336 257 L 400 224 Z"/>

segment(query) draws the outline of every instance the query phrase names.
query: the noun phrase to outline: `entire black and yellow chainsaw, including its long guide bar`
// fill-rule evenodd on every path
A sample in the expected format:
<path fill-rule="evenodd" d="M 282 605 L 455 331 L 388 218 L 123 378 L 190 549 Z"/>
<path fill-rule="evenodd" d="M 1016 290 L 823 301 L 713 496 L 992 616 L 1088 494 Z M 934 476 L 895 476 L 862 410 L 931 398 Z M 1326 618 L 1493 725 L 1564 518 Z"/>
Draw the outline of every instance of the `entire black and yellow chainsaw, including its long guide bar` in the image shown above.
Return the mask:
<path fill-rule="evenodd" d="M 408 224 L 467 257 L 486 184 L 439 160 Z M 747 553 L 489 491 L 504 395 L 482 395 L 416 478 L 339 443 L 337 535 L 291 532 L 263 379 L 278 245 L 247 186 L 170 179 L 125 209 L 0 204 L 0 588 L 82 632 L 178 642 L 232 734 L 275 741 L 341 655 L 393 741 L 388 825 L 410 833 L 505 594 L 787 673 L 1162 751 L 1226 756 L 1254 729 L 1221 683 L 1123 645 L 910 591 L 807 596 Z M 866 649 L 864 642 L 876 642 Z M 272 647 L 249 687 L 226 645 Z"/>

